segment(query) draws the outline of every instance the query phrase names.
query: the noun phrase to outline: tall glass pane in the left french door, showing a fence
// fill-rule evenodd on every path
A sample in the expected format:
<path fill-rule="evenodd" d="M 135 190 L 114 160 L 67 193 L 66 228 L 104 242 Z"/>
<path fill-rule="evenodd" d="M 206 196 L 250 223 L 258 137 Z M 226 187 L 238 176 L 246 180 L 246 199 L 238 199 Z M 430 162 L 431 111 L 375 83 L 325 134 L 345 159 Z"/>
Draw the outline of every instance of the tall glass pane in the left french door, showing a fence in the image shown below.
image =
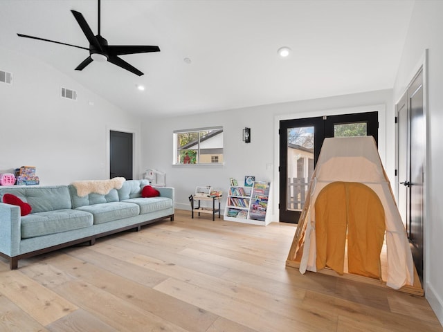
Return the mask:
<path fill-rule="evenodd" d="M 287 129 L 287 210 L 300 211 L 314 172 L 314 127 Z"/>

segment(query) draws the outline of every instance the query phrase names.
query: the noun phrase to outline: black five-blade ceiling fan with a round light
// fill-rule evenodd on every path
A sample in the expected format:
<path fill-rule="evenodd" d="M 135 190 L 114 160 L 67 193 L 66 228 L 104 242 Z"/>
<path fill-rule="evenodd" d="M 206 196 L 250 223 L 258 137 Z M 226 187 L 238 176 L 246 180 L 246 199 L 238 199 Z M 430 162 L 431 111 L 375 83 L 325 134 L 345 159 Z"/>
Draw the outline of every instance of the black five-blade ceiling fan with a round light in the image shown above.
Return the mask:
<path fill-rule="evenodd" d="M 84 59 L 83 62 L 81 64 L 79 64 L 77 66 L 77 68 L 75 68 L 76 71 L 82 71 L 84 67 L 86 67 L 88 64 L 90 64 L 93 61 L 99 61 L 99 62 L 108 61 L 108 62 L 111 62 L 111 64 L 115 64 L 116 66 L 119 66 L 123 69 L 126 69 L 127 71 L 130 71 L 131 73 L 141 76 L 141 75 L 143 75 L 143 73 L 141 71 L 139 71 L 137 68 L 135 68 L 131 64 L 128 64 L 127 62 L 125 62 L 125 60 L 118 57 L 118 55 L 160 52 L 159 46 L 108 45 L 107 40 L 100 35 L 100 0 L 98 0 L 98 34 L 95 36 L 94 36 L 91 28 L 89 28 L 89 25 L 87 24 L 86 19 L 84 19 L 82 13 L 77 12 L 75 10 L 71 10 L 71 12 L 74 15 L 75 19 L 77 20 L 78 25 L 82 29 L 84 35 L 87 37 L 88 42 L 89 42 L 89 48 L 66 44 L 66 43 L 62 43 L 62 42 L 55 42 L 54 40 L 33 37 L 33 36 L 29 36 L 29 35 L 22 35 L 21 33 L 17 33 L 17 35 L 19 37 L 38 39 L 38 40 L 43 40 L 44 42 L 51 42 L 51 43 L 55 43 L 55 44 L 62 44 L 62 45 L 82 48 L 84 50 L 89 50 L 89 57 Z"/>

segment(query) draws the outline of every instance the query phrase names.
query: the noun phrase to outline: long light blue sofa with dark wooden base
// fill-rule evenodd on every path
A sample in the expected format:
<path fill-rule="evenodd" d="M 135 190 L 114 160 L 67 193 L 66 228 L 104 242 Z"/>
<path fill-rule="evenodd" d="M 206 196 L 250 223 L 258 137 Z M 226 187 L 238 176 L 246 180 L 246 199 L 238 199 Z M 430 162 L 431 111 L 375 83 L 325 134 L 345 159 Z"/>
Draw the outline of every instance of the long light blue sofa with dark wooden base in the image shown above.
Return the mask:
<path fill-rule="evenodd" d="M 93 245 L 99 237 L 166 218 L 174 221 L 174 188 L 156 187 L 159 197 L 143 198 L 145 185 L 147 180 L 129 180 L 106 195 L 83 197 L 73 185 L 0 187 L 0 198 L 13 194 L 32 208 L 20 216 L 18 206 L 0 203 L 0 256 L 16 269 L 19 259 L 79 243 Z"/>

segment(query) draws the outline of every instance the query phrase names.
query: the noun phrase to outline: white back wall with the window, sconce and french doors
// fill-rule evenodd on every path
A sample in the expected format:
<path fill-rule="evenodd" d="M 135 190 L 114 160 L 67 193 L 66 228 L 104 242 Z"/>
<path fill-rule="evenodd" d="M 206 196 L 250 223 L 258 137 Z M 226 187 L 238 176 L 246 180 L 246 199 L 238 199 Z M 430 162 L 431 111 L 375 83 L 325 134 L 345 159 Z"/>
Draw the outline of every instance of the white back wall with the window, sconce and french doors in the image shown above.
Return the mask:
<path fill-rule="evenodd" d="M 244 176 L 273 181 L 273 221 L 278 221 L 278 120 L 302 116 L 374 111 L 371 105 L 386 109 L 381 113 L 379 147 L 388 174 L 394 174 L 395 138 L 392 91 L 373 91 L 300 102 L 270 104 L 193 116 L 145 120 L 142 130 L 142 168 L 166 172 L 166 185 L 175 187 L 175 204 L 190 209 L 188 196 L 197 185 L 211 185 L 228 191 L 229 178 L 243 183 Z M 389 110 L 389 111 L 388 111 Z M 224 127 L 224 166 L 172 165 L 172 131 L 200 127 Z M 390 127 L 388 135 L 386 126 Z M 242 142 L 242 129 L 251 128 L 251 143 Z M 386 156 L 388 156 L 386 158 Z M 222 208 L 225 205 L 222 200 Z"/>

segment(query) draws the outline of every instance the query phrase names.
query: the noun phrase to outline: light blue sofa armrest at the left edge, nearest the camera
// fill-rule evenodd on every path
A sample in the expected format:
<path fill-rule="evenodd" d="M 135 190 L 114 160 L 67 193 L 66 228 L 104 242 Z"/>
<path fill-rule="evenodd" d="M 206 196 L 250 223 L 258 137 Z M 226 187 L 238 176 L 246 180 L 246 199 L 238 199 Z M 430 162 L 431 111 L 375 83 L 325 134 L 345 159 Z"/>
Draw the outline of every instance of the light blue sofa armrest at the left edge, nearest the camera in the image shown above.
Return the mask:
<path fill-rule="evenodd" d="M 9 257 L 20 253 L 20 221 L 18 206 L 0 203 L 0 252 Z"/>

